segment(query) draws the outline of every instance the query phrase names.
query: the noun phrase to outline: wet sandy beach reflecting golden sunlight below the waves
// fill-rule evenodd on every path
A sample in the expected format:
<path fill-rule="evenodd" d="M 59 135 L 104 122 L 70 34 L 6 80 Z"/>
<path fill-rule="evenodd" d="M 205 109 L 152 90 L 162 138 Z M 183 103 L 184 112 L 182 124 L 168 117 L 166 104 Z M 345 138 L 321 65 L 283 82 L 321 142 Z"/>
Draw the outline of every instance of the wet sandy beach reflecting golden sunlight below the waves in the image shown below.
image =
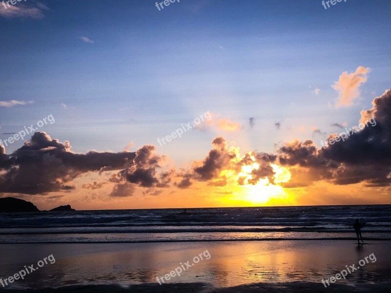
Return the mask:
<path fill-rule="evenodd" d="M 45 264 L 9 292 L 388 292 L 390 241 L 206 241 L 182 243 L 2 244 L 0 276 L 13 275 L 47 255 Z M 208 253 L 202 254 L 202 252 Z M 194 264 L 195 256 L 204 256 Z M 335 276 L 370 254 L 365 266 L 330 286 Z M 368 257 L 367 257 L 368 259 Z M 190 261 L 190 268 L 159 285 Z M 69 287 L 71 286 L 71 287 Z M 382 289 L 383 288 L 383 289 Z M 35 291 L 34 291 L 35 290 Z"/>

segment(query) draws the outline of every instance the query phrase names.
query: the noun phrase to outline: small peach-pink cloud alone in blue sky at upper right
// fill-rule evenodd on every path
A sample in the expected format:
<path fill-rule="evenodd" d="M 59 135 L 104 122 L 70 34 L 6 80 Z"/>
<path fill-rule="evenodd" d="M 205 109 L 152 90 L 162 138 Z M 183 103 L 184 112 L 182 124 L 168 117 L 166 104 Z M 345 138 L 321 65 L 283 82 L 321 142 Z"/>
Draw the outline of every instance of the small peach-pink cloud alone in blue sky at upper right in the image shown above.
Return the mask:
<path fill-rule="evenodd" d="M 331 85 L 332 88 L 339 92 L 339 97 L 335 104 L 337 108 L 353 105 L 353 101 L 360 96 L 360 85 L 367 82 L 367 73 L 369 71 L 369 67 L 363 66 L 357 67 L 356 71 L 350 74 L 348 74 L 348 71 L 345 71 L 340 75 L 339 81 Z"/>

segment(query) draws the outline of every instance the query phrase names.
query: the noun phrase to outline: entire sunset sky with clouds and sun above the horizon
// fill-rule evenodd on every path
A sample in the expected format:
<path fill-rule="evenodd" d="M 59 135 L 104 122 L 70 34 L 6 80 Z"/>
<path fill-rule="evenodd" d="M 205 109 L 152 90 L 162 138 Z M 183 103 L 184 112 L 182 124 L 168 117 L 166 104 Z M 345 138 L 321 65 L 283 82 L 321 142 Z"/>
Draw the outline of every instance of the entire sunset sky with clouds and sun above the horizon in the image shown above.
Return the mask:
<path fill-rule="evenodd" d="M 390 1 L 156 5 L 0 3 L 0 197 L 391 204 Z"/>

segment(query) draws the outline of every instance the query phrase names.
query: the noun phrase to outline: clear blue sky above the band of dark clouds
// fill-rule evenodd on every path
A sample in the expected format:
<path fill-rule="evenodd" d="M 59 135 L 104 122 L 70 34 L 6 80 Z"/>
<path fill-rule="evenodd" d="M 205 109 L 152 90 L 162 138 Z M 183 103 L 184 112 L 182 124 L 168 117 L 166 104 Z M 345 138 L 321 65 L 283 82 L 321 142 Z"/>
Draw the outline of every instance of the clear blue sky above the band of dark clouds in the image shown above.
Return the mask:
<path fill-rule="evenodd" d="M 34 101 L 0 107 L 0 132 L 53 114 L 43 130 L 77 152 L 120 151 L 133 141 L 132 150 L 154 144 L 182 164 L 203 158 L 217 135 L 244 151 L 273 151 L 295 138 L 319 144 L 327 135 L 311 127 L 355 126 L 360 110 L 390 88 L 389 1 L 325 10 L 318 0 L 181 0 L 162 11 L 150 0 L 40 3 L 15 6 L 38 7 L 41 18 L 0 17 L 0 101 Z M 358 66 L 371 68 L 360 99 L 329 106 L 338 97 L 331 84 Z M 206 111 L 242 129 L 192 131 L 157 145 Z"/>

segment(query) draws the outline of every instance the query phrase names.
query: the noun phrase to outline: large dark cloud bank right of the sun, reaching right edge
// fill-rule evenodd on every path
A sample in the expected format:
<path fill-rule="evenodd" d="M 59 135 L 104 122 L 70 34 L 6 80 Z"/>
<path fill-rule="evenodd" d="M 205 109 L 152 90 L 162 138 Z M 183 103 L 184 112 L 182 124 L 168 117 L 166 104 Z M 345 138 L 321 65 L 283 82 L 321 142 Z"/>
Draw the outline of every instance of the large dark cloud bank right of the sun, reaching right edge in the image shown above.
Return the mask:
<path fill-rule="evenodd" d="M 375 98 L 372 105 L 361 111 L 360 123 L 368 123 L 369 117 L 376 123 L 368 123 L 345 142 L 317 149 L 310 140 L 295 141 L 280 148 L 278 161 L 304 167 L 301 172 L 307 176 L 308 184 L 311 180 L 326 180 L 337 185 L 365 182 L 369 187 L 390 186 L 391 90 Z M 298 178 L 293 171 L 290 184 L 298 183 Z"/>

